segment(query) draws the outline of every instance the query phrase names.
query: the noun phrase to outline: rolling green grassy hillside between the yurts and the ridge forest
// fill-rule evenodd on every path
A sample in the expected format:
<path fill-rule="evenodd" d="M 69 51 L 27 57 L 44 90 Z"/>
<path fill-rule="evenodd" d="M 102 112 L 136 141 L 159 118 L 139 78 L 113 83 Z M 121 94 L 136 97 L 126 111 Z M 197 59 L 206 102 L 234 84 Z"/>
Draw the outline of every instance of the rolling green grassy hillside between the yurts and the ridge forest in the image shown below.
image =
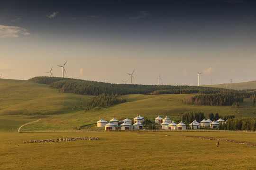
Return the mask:
<path fill-rule="evenodd" d="M 87 95 L 59 93 L 48 85 L 22 80 L 0 79 L 0 130 L 16 131 L 24 123 L 42 119 L 24 126 L 22 130 L 48 129 L 99 129 L 96 121 L 101 118 L 123 120 L 142 115 L 154 119 L 158 115 L 176 122 L 186 111 L 218 112 L 219 115 L 236 117 L 255 116 L 256 107 L 250 99 L 245 99 L 239 108 L 231 106 L 198 106 L 182 102 L 186 96 L 194 94 L 139 95 L 121 96 L 127 102 L 118 105 L 96 108 L 85 112 L 83 104 L 91 98 Z"/>

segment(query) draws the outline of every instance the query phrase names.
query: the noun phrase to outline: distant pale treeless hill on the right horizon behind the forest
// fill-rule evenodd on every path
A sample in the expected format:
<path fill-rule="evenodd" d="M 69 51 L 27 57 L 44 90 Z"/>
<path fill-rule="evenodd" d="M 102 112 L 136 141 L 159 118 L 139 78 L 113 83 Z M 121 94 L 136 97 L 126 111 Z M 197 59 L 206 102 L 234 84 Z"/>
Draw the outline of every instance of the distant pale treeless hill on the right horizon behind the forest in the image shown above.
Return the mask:
<path fill-rule="evenodd" d="M 249 81 L 249 82 L 241 82 L 241 83 L 224 83 L 218 85 L 203 85 L 204 87 L 217 87 L 217 88 L 227 88 L 227 89 L 234 89 L 234 90 L 243 90 L 243 89 L 256 89 L 256 81 Z"/>

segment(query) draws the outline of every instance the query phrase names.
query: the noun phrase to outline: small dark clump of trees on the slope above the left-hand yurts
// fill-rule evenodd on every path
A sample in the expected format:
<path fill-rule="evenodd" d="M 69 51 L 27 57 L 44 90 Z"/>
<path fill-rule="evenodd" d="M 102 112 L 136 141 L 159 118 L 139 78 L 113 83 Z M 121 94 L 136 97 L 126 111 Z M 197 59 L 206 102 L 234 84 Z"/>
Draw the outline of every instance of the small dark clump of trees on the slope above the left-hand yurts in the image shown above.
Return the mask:
<path fill-rule="evenodd" d="M 109 94 L 100 94 L 98 96 L 92 97 L 91 100 L 86 102 L 86 111 L 91 110 L 95 107 L 106 107 L 111 106 L 118 103 L 126 102 L 126 99 L 118 99 L 117 95 L 109 95 Z"/>

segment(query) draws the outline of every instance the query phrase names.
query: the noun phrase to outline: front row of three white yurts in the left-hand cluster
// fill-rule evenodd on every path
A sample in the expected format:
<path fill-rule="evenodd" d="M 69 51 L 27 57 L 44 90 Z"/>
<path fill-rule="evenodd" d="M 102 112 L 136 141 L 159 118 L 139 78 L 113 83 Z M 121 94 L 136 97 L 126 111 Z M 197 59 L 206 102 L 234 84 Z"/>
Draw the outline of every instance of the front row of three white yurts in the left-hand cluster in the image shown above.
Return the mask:
<path fill-rule="evenodd" d="M 141 130 L 143 129 L 143 124 L 137 121 L 133 125 L 126 122 L 122 123 L 120 126 L 117 126 L 113 123 L 108 123 L 105 125 L 105 130 Z"/>

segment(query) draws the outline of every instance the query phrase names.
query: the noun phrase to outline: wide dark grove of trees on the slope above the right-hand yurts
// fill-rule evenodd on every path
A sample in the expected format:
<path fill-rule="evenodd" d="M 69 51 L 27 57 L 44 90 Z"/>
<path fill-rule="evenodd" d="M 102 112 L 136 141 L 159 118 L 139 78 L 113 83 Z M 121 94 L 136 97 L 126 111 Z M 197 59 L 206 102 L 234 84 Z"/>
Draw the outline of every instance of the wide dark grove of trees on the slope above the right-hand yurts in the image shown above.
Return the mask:
<path fill-rule="evenodd" d="M 201 94 L 185 97 L 186 104 L 210 105 L 210 106 L 231 106 L 234 102 L 243 102 L 243 97 L 229 94 Z"/>

